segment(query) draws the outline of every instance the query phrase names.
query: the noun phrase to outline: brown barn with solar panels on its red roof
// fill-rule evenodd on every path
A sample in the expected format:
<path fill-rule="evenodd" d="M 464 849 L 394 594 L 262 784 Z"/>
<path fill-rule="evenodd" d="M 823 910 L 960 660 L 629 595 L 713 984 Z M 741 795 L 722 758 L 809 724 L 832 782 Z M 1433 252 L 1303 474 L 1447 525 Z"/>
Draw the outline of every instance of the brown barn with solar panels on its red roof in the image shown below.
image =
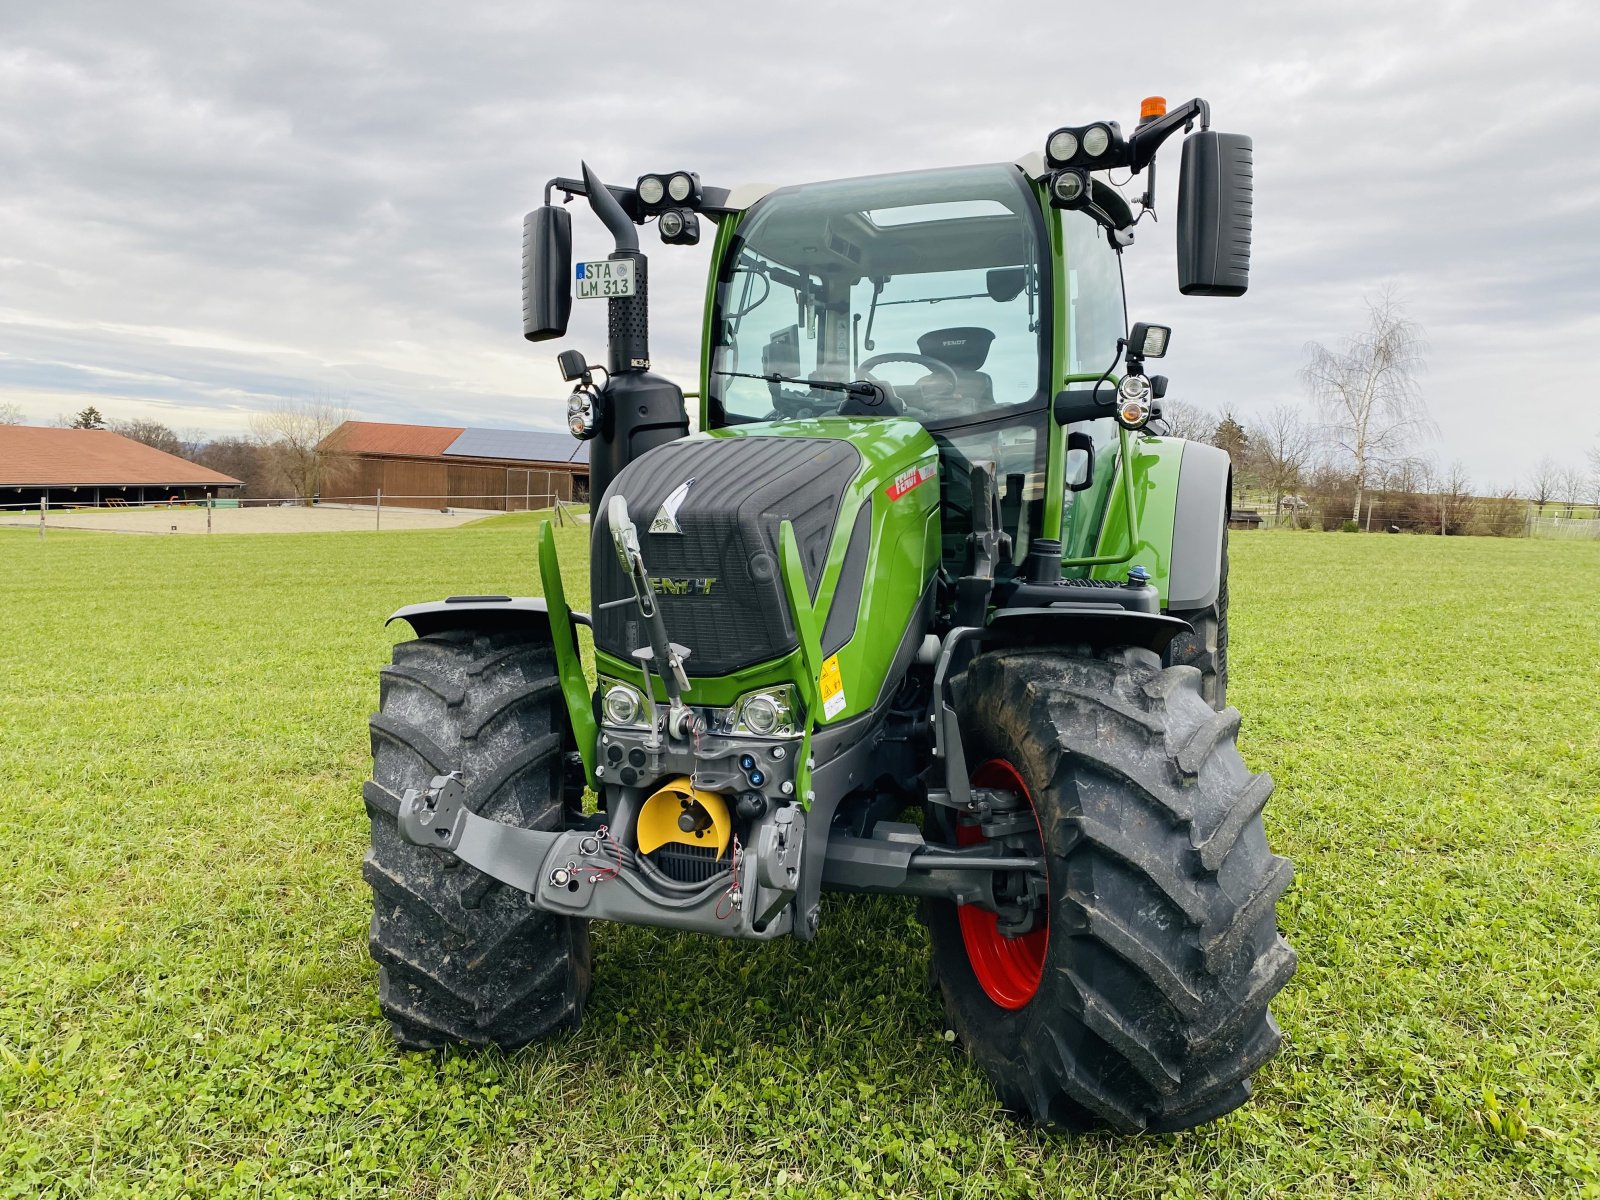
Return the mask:
<path fill-rule="evenodd" d="M 589 498 L 589 443 L 570 434 L 346 421 L 317 446 L 325 502 L 547 509 Z"/>

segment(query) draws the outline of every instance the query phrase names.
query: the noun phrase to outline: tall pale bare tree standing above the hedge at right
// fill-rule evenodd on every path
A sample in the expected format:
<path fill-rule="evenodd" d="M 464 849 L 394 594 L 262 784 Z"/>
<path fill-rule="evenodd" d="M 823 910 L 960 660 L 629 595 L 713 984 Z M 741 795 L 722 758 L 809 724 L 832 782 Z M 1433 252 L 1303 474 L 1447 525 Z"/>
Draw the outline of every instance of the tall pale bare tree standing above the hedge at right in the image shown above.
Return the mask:
<path fill-rule="evenodd" d="M 1362 518 L 1373 467 L 1398 458 L 1430 427 L 1416 382 L 1426 366 L 1422 328 L 1405 315 L 1392 291 L 1366 301 L 1366 328 L 1336 350 L 1309 342 L 1309 362 L 1301 370 L 1333 442 L 1350 461 L 1355 522 Z"/>

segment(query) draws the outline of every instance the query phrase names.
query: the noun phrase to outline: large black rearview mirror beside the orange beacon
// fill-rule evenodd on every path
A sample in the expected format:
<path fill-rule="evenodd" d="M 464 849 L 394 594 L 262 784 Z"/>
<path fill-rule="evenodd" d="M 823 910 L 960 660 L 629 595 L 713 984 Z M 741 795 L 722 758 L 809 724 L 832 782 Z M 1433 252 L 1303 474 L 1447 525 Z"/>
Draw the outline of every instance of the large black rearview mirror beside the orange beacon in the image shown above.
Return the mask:
<path fill-rule="evenodd" d="M 1245 294 L 1253 189 L 1250 138 L 1203 130 L 1184 141 L 1178 174 L 1178 290 L 1184 296 Z"/>

